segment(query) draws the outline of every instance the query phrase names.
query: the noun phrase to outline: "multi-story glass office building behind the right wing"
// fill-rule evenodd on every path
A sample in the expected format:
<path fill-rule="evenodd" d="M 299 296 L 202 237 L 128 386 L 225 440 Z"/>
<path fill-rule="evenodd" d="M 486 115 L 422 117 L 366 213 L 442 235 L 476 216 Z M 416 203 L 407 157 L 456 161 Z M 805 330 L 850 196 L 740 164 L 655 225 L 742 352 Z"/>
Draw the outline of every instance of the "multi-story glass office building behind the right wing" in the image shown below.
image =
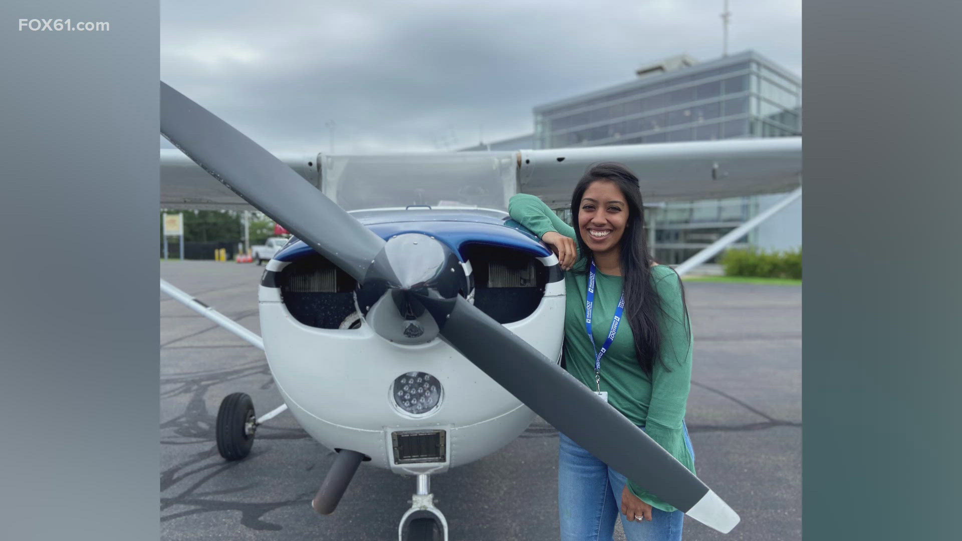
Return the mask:
<path fill-rule="evenodd" d="M 706 63 L 673 57 L 637 73 L 638 79 L 629 83 L 536 107 L 534 146 L 801 135 L 801 81 L 754 51 Z M 681 263 L 780 197 L 670 202 L 651 209 L 655 258 L 662 263 Z M 800 217 L 800 201 L 794 205 L 797 209 L 783 213 Z M 570 217 L 567 209 L 557 211 Z M 801 245 L 800 219 L 781 220 L 779 231 L 764 228 L 762 224 L 734 247 Z"/>

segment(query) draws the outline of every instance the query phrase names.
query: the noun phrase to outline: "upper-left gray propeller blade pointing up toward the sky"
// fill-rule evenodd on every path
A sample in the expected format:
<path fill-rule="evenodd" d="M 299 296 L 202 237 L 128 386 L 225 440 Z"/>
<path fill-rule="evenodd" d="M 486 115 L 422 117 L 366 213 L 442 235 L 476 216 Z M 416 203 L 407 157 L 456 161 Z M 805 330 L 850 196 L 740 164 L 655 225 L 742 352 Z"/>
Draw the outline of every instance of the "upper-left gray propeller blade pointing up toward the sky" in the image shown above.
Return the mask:
<path fill-rule="evenodd" d="M 384 241 L 190 98 L 161 83 L 161 133 L 191 160 L 360 281 Z"/>

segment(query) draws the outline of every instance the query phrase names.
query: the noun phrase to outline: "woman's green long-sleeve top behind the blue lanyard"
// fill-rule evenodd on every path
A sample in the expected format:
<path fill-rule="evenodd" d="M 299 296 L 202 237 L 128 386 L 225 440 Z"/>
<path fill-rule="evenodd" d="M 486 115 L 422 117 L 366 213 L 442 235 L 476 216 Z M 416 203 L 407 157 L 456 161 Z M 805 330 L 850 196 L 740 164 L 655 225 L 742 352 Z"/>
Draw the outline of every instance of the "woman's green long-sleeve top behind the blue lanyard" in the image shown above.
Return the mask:
<path fill-rule="evenodd" d="M 534 195 L 519 193 L 513 196 L 508 210 L 512 219 L 539 239 L 548 231 L 574 238 L 574 229 Z M 588 275 L 583 271 L 569 271 L 565 278 L 566 367 L 571 375 L 594 391 L 595 347 L 585 329 Z M 608 392 L 608 402 L 615 409 L 635 425 L 645 425 L 651 439 L 694 473 L 695 460 L 685 443 L 682 425 L 692 382 L 691 323 L 685 318 L 678 274 L 668 266 L 657 265 L 651 268 L 651 280 L 662 300 L 659 329 L 662 332 L 660 356 L 664 363 L 656 361 L 650 377 L 642 371 L 635 353 L 634 334 L 630 325 L 624 324 L 627 323 L 625 320 L 620 324 L 611 348 L 601 358 L 601 390 Z M 592 333 L 600 348 L 611 330 L 621 296 L 622 279 L 621 276 L 598 272 L 595 283 Z M 670 370 L 665 368 L 666 365 Z M 642 501 L 663 511 L 675 510 L 647 492 L 644 486 L 645 479 L 628 480 L 629 490 Z"/>

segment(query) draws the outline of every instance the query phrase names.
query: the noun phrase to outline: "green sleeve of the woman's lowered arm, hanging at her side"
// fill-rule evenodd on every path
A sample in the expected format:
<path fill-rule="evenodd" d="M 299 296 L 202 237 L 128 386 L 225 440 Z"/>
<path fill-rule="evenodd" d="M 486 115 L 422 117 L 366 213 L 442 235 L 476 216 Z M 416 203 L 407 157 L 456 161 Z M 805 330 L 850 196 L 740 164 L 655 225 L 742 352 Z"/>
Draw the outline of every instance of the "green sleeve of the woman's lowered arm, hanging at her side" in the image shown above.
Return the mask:
<path fill-rule="evenodd" d="M 691 323 L 685 317 L 685 306 L 681 296 L 681 280 L 673 270 L 655 283 L 655 290 L 661 296 L 662 314 L 659 329 L 662 332 L 660 359 L 654 363 L 651 374 L 651 401 L 645 432 L 665 451 L 695 472 L 695 459 L 685 439 L 685 405 L 692 386 L 692 349 Z M 629 481 L 628 487 L 636 496 L 651 502 L 651 494 L 639 485 Z M 673 511 L 667 504 L 655 506 L 663 511 Z M 668 508 L 666 508 L 668 507 Z"/>

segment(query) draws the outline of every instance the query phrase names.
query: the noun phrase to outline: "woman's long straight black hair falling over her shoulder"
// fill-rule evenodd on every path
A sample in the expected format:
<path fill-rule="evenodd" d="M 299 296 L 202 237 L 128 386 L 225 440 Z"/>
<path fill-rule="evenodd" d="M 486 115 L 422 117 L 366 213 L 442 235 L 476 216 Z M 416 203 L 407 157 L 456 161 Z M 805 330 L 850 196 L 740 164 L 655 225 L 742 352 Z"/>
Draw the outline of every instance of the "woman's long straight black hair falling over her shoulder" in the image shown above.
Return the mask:
<path fill-rule="evenodd" d="M 661 296 L 655 291 L 651 280 L 652 259 L 648 255 L 648 242 L 645 234 L 645 204 L 638 187 L 638 177 L 628 167 L 614 162 L 595 164 L 589 167 L 574 187 L 571 193 L 571 222 L 574 225 L 574 238 L 578 244 L 578 261 L 573 270 L 579 273 L 588 271 L 591 264 L 591 248 L 581 238 L 581 227 L 578 225 L 578 214 L 581 210 L 581 198 L 591 184 L 598 180 L 607 180 L 624 195 L 628 203 L 628 220 L 620 241 L 620 264 L 623 276 L 624 313 L 625 319 L 635 335 L 635 353 L 638 365 L 647 375 L 651 375 L 655 359 L 661 358 L 663 334 L 658 326 L 658 318 L 664 311 Z M 688 306 L 685 302 L 685 288 L 678 280 L 681 288 L 681 302 L 685 328 L 691 336 L 688 322 Z M 687 353 L 686 353 L 687 354 Z M 662 359 L 662 366 L 671 371 L 671 367 Z"/>

